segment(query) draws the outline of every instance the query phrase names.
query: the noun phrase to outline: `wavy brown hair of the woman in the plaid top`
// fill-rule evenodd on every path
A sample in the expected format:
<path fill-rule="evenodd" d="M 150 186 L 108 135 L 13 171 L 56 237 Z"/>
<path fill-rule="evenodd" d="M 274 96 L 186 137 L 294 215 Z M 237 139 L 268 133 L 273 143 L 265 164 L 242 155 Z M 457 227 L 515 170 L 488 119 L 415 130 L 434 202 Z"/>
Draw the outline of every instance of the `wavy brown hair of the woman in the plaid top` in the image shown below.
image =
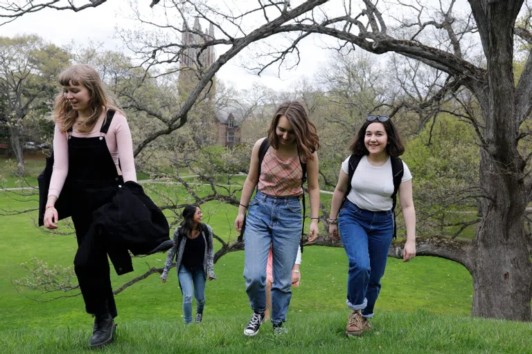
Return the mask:
<path fill-rule="evenodd" d="M 272 119 L 272 123 L 269 125 L 269 145 L 272 145 L 274 149 L 278 149 L 279 147 L 279 140 L 275 131 L 279 119 L 283 115 L 290 122 L 292 129 L 294 129 L 299 154 L 302 154 L 307 161 L 312 160 L 314 158 L 312 153 L 319 149 L 319 137 L 316 126 L 308 118 L 305 107 L 297 101 L 283 102 L 281 106 L 278 106 L 277 111 L 274 113 L 274 119 Z"/>

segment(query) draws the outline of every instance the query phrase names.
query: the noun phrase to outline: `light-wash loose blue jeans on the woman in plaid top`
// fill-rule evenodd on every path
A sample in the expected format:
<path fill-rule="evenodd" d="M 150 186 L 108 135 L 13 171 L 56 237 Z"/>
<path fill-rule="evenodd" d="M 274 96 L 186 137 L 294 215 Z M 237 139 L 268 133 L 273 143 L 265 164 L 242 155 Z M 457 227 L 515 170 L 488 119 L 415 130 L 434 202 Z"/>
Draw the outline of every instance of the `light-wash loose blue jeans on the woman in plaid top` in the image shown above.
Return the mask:
<path fill-rule="evenodd" d="M 285 322 L 292 298 L 292 268 L 296 261 L 303 216 L 299 197 L 273 197 L 257 192 L 249 203 L 244 232 L 246 292 L 251 309 L 266 310 L 266 264 L 272 244 L 274 283 L 272 323 Z"/>

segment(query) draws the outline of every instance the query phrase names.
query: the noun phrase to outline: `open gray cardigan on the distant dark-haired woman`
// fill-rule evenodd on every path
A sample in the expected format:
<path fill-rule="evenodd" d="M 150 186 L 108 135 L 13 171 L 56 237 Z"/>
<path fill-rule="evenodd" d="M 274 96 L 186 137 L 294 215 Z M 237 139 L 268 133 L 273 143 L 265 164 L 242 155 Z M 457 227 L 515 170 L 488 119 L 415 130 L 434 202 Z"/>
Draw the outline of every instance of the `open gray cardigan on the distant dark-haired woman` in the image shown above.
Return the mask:
<path fill-rule="evenodd" d="M 205 277 L 205 279 L 207 279 L 208 277 L 216 279 L 216 276 L 214 274 L 213 229 L 211 229 L 211 226 L 207 224 L 204 225 L 206 225 L 207 230 L 209 230 L 209 235 L 205 235 L 205 232 L 202 230 L 201 234 L 206 245 L 205 256 L 203 258 L 203 276 Z M 166 277 L 168 277 L 168 270 L 170 270 L 170 267 L 172 266 L 172 261 L 174 260 L 176 253 L 177 259 L 175 260 L 175 269 L 177 270 L 177 272 L 179 272 L 179 266 L 181 265 L 181 261 L 183 259 L 183 252 L 185 250 L 186 243 L 186 237 L 183 237 L 179 245 L 177 244 L 180 227 L 181 225 L 179 225 L 174 231 L 174 245 L 168 251 L 168 256 L 166 256 L 166 263 L 164 264 L 164 270 L 163 274 L 161 274 L 161 279 L 166 280 Z M 177 252 L 178 250 L 179 252 Z"/>

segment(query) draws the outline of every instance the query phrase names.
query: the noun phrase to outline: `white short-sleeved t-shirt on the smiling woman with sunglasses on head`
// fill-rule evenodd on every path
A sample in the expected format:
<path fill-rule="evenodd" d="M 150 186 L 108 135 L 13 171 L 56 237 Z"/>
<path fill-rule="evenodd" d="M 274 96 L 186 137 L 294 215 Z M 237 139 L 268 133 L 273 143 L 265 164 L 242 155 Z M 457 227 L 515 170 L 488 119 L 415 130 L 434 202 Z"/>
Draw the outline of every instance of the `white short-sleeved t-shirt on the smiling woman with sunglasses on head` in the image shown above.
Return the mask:
<path fill-rule="evenodd" d="M 342 170 L 349 174 L 348 156 L 342 162 Z M 405 162 L 402 162 L 404 170 L 401 183 L 412 179 L 410 170 Z M 355 169 L 355 174 L 351 180 L 351 192 L 347 198 L 351 203 L 361 209 L 371 210 L 372 212 L 383 212 L 391 209 L 393 201 L 393 176 L 391 174 L 391 159 L 382 166 L 373 166 L 368 162 L 367 156 L 362 156 L 360 163 Z"/>

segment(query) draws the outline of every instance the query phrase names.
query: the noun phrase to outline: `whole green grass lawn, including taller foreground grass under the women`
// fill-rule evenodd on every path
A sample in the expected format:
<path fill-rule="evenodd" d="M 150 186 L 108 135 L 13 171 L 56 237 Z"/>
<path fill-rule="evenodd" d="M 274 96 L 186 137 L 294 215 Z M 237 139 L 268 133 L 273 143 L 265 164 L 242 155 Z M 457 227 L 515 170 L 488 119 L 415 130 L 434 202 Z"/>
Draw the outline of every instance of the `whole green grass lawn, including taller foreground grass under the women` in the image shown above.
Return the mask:
<path fill-rule="evenodd" d="M 33 170 L 42 170 L 42 160 Z M 3 161 L 0 160 L 0 174 Z M 28 163 L 28 168 L 30 164 Z M 29 169 L 28 169 L 29 171 Z M 32 172 L 34 174 L 35 172 Z M 34 174 L 33 176 L 36 176 Z M 15 184 L 9 179 L 8 184 Z M 32 178 L 30 176 L 30 178 Z M 220 181 L 222 183 L 222 181 Z M 242 176 L 231 178 L 243 183 Z M 184 203 L 190 196 L 175 185 L 145 185 L 157 190 L 159 205 Z M 209 192 L 201 187 L 200 193 Z M 322 194 L 330 203 L 330 195 Z M 307 198 L 308 199 L 308 198 Z M 0 209 L 36 206 L 35 196 L 0 192 Z M 237 208 L 211 202 L 202 205 L 204 221 L 223 239 L 235 239 L 233 221 Z M 310 209 L 308 214 L 310 213 Z M 170 212 L 167 212 L 170 216 Z M 80 296 L 51 302 L 62 293 L 40 295 L 17 292 L 12 281 L 28 274 L 21 263 L 37 257 L 49 264 L 69 266 L 76 254 L 73 234 L 50 234 L 35 227 L 36 213 L 0 216 L 0 352 L 1 353 L 85 353 L 92 319 L 83 310 Z M 68 221 L 60 222 L 67 233 Z M 170 230 L 173 232 L 173 230 Z M 215 248 L 220 244 L 215 242 Z M 112 271 L 115 288 L 148 270 L 162 267 L 166 254 L 134 259 L 134 272 L 121 277 Z M 301 265 L 301 286 L 294 288 L 287 315 L 290 333 L 273 337 L 266 324 L 261 335 L 248 339 L 242 330 L 251 310 L 242 277 L 244 254 L 226 254 L 215 264 L 218 277 L 206 288 L 206 321 L 185 328 L 182 323 L 181 293 L 175 270 L 168 283 L 153 274 L 116 296 L 119 317 L 118 342 L 109 353 L 240 353 L 267 349 L 279 353 L 343 353 L 357 351 L 394 353 L 527 353 L 532 348 L 530 326 L 512 322 L 482 321 L 468 317 L 472 306 L 472 281 L 465 268 L 434 257 L 418 257 L 409 263 L 389 259 L 376 305 L 374 330 L 362 339 L 342 335 L 346 309 L 347 259 L 341 248 L 305 248 Z M 356 349 L 353 349 L 355 347 Z M 531 351 L 532 352 L 532 351 Z"/>

